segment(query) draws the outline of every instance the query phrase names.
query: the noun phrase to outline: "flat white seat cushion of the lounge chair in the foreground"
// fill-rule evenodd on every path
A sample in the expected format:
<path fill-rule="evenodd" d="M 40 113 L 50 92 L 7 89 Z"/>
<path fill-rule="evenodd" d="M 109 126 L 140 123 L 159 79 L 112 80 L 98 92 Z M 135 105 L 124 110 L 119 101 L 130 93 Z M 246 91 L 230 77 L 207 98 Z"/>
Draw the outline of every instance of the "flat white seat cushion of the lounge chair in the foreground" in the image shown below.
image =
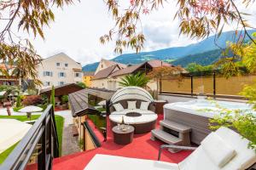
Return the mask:
<path fill-rule="evenodd" d="M 176 163 L 96 154 L 84 170 L 179 170 Z"/>

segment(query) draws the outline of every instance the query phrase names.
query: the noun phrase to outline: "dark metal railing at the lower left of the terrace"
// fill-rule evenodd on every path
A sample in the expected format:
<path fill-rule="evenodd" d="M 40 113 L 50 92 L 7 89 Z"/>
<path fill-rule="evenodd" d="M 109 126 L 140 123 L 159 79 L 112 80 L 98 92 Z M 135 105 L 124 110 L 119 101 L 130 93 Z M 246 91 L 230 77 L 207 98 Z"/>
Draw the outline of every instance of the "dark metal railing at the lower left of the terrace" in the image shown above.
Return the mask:
<path fill-rule="evenodd" d="M 55 114 L 49 105 L 32 125 L 20 143 L 3 162 L 0 169 L 52 169 L 54 157 L 59 156 Z"/>

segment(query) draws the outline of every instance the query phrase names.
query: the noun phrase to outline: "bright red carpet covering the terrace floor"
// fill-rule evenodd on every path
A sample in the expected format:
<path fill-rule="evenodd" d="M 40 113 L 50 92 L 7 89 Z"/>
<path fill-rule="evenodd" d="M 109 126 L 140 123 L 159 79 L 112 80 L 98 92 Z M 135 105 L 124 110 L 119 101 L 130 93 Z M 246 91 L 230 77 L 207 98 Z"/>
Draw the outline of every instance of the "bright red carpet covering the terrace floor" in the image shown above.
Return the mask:
<path fill-rule="evenodd" d="M 158 122 L 163 118 L 159 116 Z M 108 123 L 109 125 L 109 123 Z M 90 127 L 94 127 L 93 123 L 90 122 Z M 157 125 L 159 127 L 159 125 Z M 102 134 L 95 128 L 95 133 L 99 139 L 103 141 Z M 110 127 L 108 127 L 108 140 L 107 142 L 102 142 L 102 147 L 95 150 L 89 150 L 84 152 L 79 152 L 70 156 L 63 156 L 56 158 L 54 160 L 54 170 L 73 170 L 73 169 L 84 169 L 88 162 L 96 154 L 105 154 L 113 156 L 126 156 L 134 158 L 142 158 L 149 160 L 157 160 L 158 151 L 160 148 L 160 141 L 150 140 L 150 133 L 145 134 L 135 134 L 134 139 L 131 144 L 119 145 L 113 143 L 112 132 Z M 164 150 L 161 156 L 161 161 L 168 162 L 180 162 L 189 154 L 191 151 L 180 151 L 178 153 L 172 154 L 167 150 Z"/>

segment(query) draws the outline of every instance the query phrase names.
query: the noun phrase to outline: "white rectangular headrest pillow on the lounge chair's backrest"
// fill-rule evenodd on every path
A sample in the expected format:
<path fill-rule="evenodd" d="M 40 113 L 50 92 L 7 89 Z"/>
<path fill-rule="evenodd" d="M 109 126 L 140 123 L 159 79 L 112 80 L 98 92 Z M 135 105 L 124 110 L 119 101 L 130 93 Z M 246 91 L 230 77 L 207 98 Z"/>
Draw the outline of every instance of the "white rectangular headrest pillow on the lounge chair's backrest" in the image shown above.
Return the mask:
<path fill-rule="evenodd" d="M 206 151 L 207 156 L 220 168 L 224 167 L 225 164 L 236 156 L 236 150 L 230 147 L 229 144 L 226 144 L 216 133 L 210 133 L 201 142 L 201 147 Z"/>

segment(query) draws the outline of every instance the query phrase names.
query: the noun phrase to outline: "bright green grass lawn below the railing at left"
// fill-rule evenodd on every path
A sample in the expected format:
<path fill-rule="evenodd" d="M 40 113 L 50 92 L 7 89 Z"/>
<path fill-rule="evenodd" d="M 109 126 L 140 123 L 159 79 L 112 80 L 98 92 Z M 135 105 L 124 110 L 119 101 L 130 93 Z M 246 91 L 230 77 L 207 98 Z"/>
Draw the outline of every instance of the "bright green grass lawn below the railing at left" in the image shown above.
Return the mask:
<path fill-rule="evenodd" d="M 32 115 L 31 120 L 38 119 L 40 115 Z M 0 119 L 16 119 L 21 122 L 29 121 L 26 116 L 0 116 Z M 64 124 L 64 118 L 62 116 L 55 115 L 55 122 L 56 122 L 56 128 L 57 128 L 57 134 L 58 134 L 58 140 L 59 140 L 59 147 L 60 147 L 60 156 L 61 156 L 61 148 L 62 148 L 62 131 L 63 131 L 63 124 Z M 18 144 L 18 143 L 17 143 Z M 15 149 L 15 146 L 17 144 L 12 145 L 9 147 L 9 149 L 4 150 L 0 154 L 0 164 L 6 159 L 7 156 L 9 156 L 9 153 Z"/>

